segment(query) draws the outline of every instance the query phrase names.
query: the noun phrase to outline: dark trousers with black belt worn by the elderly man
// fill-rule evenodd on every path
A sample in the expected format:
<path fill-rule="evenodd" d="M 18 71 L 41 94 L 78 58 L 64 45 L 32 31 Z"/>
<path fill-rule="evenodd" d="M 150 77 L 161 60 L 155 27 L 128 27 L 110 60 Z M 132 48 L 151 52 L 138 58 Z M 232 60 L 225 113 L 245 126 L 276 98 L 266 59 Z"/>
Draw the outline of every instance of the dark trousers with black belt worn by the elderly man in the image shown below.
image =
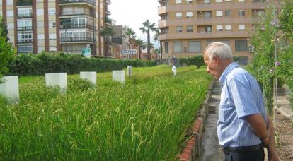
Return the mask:
<path fill-rule="evenodd" d="M 265 152 L 263 148 L 252 151 L 227 151 L 224 150 L 225 161 L 263 161 L 265 160 Z"/>

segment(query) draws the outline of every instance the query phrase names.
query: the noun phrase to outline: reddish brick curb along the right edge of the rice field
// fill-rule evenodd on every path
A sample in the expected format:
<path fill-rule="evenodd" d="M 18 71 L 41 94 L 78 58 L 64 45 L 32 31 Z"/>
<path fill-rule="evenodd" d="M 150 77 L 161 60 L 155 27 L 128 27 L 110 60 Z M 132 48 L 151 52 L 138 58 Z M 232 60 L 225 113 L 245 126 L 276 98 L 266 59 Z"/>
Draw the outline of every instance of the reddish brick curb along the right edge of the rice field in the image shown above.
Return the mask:
<path fill-rule="evenodd" d="M 209 89 L 205 96 L 205 100 L 202 102 L 202 106 L 197 111 L 195 117 L 195 123 L 193 124 L 192 133 L 186 133 L 188 141 L 178 155 L 178 160 L 195 160 L 195 157 L 200 155 L 200 143 L 202 140 L 202 132 L 205 130 L 205 120 L 209 114 L 209 101 L 212 95 L 212 87 L 214 86 L 214 81 L 209 85 Z"/>

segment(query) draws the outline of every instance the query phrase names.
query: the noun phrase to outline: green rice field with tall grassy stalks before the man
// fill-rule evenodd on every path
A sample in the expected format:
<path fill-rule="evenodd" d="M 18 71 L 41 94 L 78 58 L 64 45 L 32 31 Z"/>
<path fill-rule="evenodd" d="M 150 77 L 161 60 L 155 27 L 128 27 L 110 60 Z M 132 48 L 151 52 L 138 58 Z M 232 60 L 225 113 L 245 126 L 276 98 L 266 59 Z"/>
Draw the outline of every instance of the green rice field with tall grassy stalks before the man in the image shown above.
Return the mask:
<path fill-rule="evenodd" d="M 97 85 L 71 75 L 64 95 L 45 76 L 20 78 L 21 102 L 0 100 L 0 160 L 176 160 L 212 81 L 177 71 L 133 68 L 125 85 L 110 72 Z"/>

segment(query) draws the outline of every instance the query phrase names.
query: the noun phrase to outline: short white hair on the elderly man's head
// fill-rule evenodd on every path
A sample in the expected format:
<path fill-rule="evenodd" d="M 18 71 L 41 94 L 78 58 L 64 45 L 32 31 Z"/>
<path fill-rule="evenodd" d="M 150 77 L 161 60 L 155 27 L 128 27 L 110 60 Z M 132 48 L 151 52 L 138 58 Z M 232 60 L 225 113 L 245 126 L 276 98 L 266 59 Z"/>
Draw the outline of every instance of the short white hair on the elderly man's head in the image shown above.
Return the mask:
<path fill-rule="evenodd" d="M 205 52 L 210 60 L 212 60 L 214 56 L 218 56 L 219 59 L 233 59 L 231 48 L 223 42 L 212 42 L 207 45 Z"/>

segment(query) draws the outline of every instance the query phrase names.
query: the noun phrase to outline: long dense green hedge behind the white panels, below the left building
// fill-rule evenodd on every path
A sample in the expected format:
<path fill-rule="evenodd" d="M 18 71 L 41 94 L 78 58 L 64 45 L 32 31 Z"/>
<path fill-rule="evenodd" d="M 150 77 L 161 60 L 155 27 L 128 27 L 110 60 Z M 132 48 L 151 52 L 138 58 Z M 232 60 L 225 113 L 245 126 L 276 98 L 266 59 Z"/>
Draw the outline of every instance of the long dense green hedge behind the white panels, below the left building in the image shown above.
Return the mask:
<path fill-rule="evenodd" d="M 154 61 L 140 61 L 137 59 L 88 59 L 81 55 L 64 53 L 20 54 L 8 65 L 9 75 L 28 76 L 45 73 L 67 72 L 69 74 L 80 71 L 112 71 L 121 70 L 127 66 L 156 66 Z"/>

